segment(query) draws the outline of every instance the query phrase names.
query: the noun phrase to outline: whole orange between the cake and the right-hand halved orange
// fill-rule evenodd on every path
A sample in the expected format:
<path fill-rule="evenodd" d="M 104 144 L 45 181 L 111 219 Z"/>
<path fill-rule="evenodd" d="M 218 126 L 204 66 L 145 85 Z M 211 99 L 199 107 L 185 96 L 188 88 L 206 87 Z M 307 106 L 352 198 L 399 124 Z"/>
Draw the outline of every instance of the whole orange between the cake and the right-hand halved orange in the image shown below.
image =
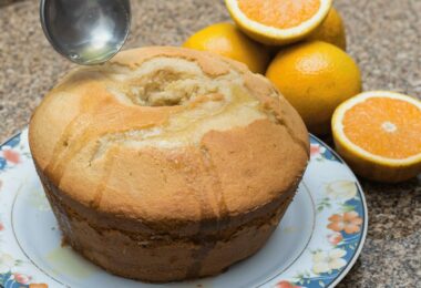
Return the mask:
<path fill-rule="evenodd" d="M 335 109 L 361 92 L 356 62 L 341 49 L 321 41 L 281 50 L 266 76 L 298 111 L 308 130 L 318 135 L 330 132 Z"/>

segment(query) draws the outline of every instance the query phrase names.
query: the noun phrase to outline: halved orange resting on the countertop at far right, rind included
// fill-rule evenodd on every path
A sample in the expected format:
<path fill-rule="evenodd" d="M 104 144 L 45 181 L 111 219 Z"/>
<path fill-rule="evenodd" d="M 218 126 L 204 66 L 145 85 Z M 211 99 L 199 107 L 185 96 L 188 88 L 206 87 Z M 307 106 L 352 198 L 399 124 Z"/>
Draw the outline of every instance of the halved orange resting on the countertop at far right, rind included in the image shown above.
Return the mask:
<path fill-rule="evenodd" d="M 337 107 L 338 153 L 359 175 L 396 183 L 421 173 L 421 102 L 387 91 L 364 92 Z"/>

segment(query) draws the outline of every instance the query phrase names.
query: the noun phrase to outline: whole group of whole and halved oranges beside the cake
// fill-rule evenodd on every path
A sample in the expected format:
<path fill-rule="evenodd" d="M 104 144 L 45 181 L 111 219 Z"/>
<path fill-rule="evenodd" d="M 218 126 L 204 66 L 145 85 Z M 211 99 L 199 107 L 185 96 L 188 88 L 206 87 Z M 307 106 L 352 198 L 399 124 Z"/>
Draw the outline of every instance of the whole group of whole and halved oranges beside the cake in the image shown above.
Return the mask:
<path fill-rule="evenodd" d="M 421 172 L 421 103 L 384 91 L 361 93 L 332 0 L 225 0 L 235 22 L 209 25 L 185 48 L 210 51 L 265 74 L 308 130 L 332 134 L 361 176 L 400 182 Z M 333 116 L 332 116 L 333 115 Z"/>

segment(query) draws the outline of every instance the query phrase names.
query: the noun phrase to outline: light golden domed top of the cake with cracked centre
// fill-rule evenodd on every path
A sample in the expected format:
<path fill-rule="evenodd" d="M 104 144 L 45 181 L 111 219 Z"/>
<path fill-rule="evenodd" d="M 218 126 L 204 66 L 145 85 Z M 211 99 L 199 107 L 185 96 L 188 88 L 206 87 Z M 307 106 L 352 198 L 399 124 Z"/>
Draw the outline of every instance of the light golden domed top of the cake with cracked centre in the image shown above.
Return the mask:
<path fill-rule="evenodd" d="M 29 137 L 40 174 L 92 223 L 184 236 L 199 222 L 235 227 L 295 188 L 309 145 L 269 81 L 181 48 L 74 70 L 37 109 Z"/>

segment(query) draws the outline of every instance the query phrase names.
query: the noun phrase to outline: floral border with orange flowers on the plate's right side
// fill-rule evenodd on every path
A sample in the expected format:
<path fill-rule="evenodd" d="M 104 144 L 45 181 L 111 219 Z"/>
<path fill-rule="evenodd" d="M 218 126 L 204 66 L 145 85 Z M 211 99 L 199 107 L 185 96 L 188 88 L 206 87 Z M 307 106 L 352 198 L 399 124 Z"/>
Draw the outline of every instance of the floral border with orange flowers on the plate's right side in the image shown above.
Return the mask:
<path fill-rule="evenodd" d="M 342 161 L 325 145 L 311 136 L 311 160 L 342 164 Z M 336 179 L 326 183 L 316 203 L 316 208 L 317 214 L 321 214 L 320 217 L 328 222 L 322 227 L 326 235 L 325 241 L 319 241 L 315 247 L 309 245 L 311 267 L 297 269 L 295 276 L 283 278 L 275 287 L 329 287 L 336 285 L 338 279 L 343 277 L 343 270 L 351 268 L 349 264 L 353 264 L 352 258 L 356 250 L 362 248 L 367 234 L 367 208 L 357 179 Z"/>

